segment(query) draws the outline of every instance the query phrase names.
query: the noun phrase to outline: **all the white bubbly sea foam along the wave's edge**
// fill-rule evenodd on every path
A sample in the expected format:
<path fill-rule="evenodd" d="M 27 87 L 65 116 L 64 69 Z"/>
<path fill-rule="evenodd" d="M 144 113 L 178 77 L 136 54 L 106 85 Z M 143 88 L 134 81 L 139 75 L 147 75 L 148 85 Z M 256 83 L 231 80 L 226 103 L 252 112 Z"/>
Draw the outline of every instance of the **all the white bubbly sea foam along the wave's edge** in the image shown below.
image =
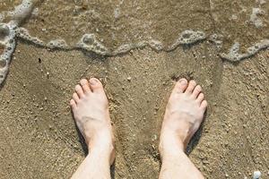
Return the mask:
<path fill-rule="evenodd" d="M 264 4 L 264 0 L 258 0 L 259 4 Z M 179 46 L 195 44 L 198 41 L 206 39 L 206 35 L 201 30 L 185 30 L 178 35 L 178 38 L 168 47 L 165 47 L 161 41 L 157 39 L 150 38 L 149 40 L 142 40 L 137 43 L 124 44 L 117 47 L 114 51 L 105 47 L 94 34 L 84 34 L 78 43 L 75 45 L 68 45 L 63 38 L 57 38 L 50 40 L 48 43 L 44 42 L 40 38 L 30 36 L 28 30 L 20 28 L 22 21 L 29 17 L 34 10 L 34 5 L 31 0 L 22 0 L 22 4 L 16 6 L 13 12 L 1 13 L 0 21 L 3 21 L 5 16 L 8 14 L 11 17 L 9 23 L 0 23 L 0 45 L 4 47 L 4 52 L 0 56 L 0 84 L 4 81 L 6 73 L 8 71 L 8 66 L 10 64 L 13 51 L 15 49 L 16 37 L 22 38 L 24 40 L 30 41 L 31 43 L 38 45 L 40 47 L 49 47 L 57 49 L 78 49 L 85 50 L 88 52 L 93 52 L 98 55 L 120 55 L 129 52 L 135 48 L 151 47 L 153 50 L 157 51 L 171 51 Z M 119 9 L 118 9 L 119 10 Z M 119 11 L 116 10 L 115 16 L 119 16 Z M 38 9 L 34 12 L 38 15 Z M 250 21 L 256 25 L 256 27 L 262 27 L 263 21 L 259 19 L 259 15 L 264 14 L 264 11 L 259 8 L 253 8 L 253 13 L 251 14 Z M 45 30 L 45 29 L 44 29 Z M 209 37 L 209 40 L 217 45 L 218 49 L 222 47 L 222 36 L 213 34 Z M 244 54 L 239 53 L 239 43 L 236 42 L 231 48 L 228 54 L 221 54 L 221 57 L 236 62 L 247 58 L 251 55 L 255 55 L 261 49 L 269 47 L 269 39 L 261 40 L 256 43 L 253 47 L 248 47 L 247 52 Z"/>

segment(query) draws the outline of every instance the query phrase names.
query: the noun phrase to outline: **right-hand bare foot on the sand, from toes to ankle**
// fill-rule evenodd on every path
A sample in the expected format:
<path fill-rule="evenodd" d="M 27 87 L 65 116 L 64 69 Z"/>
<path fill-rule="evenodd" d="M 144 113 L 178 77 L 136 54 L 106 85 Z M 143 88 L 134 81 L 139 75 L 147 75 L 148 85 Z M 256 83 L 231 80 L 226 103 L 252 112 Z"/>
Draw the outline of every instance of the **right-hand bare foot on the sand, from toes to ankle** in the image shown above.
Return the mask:
<path fill-rule="evenodd" d="M 160 151 L 185 150 L 204 118 L 207 102 L 195 81 L 180 79 L 172 91 L 161 126 Z"/>

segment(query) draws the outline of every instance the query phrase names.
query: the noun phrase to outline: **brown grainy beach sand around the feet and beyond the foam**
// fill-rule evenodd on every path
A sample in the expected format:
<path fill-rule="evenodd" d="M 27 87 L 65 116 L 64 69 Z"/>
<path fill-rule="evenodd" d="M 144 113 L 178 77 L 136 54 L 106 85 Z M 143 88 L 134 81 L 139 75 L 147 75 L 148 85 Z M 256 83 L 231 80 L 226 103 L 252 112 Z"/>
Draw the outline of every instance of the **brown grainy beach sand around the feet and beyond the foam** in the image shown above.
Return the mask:
<path fill-rule="evenodd" d="M 0 10 L 15 4 L 1 1 Z M 171 44 L 183 30 L 223 35 L 221 52 L 269 38 L 269 2 L 65 1 L 39 4 L 22 27 L 44 40 L 76 42 L 95 33 L 110 48 L 154 38 Z M 249 22 L 265 11 L 264 27 Z M 267 18 L 267 21 L 265 20 Z M 169 92 L 180 77 L 195 79 L 209 102 L 189 157 L 206 178 L 269 177 L 269 51 L 230 63 L 208 39 L 170 52 L 150 47 L 104 57 L 49 50 L 19 40 L 0 89 L 0 178 L 68 178 L 85 156 L 68 107 L 81 78 L 104 83 L 117 137 L 115 178 L 157 178 L 158 140 Z M 127 80 L 130 79 L 131 80 Z"/>

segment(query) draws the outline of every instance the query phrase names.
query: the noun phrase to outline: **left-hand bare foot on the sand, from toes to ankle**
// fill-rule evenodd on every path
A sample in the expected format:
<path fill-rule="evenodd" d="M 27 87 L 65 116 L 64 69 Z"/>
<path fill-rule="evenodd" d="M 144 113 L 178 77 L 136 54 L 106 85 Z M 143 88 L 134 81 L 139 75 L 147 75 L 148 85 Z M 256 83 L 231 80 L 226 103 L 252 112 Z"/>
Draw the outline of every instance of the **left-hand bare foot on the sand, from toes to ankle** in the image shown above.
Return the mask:
<path fill-rule="evenodd" d="M 70 100 L 74 120 L 88 145 L 90 152 L 96 150 L 115 159 L 114 137 L 108 112 L 108 98 L 101 82 L 91 78 L 83 79 L 75 86 Z"/>

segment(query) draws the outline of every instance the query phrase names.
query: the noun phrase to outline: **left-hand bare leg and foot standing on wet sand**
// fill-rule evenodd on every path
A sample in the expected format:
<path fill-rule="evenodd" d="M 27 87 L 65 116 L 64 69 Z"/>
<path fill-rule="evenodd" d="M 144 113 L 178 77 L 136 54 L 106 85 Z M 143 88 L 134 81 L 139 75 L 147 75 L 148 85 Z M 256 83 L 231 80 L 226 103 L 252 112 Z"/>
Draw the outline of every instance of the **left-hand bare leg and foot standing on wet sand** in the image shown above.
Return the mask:
<path fill-rule="evenodd" d="M 87 143 L 89 154 L 72 178 L 110 178 L 115 159 L 114 138 L 108 113 L 108 99 L 99 80 L 82 80 L 70 101 L 74 120 Z"/>

